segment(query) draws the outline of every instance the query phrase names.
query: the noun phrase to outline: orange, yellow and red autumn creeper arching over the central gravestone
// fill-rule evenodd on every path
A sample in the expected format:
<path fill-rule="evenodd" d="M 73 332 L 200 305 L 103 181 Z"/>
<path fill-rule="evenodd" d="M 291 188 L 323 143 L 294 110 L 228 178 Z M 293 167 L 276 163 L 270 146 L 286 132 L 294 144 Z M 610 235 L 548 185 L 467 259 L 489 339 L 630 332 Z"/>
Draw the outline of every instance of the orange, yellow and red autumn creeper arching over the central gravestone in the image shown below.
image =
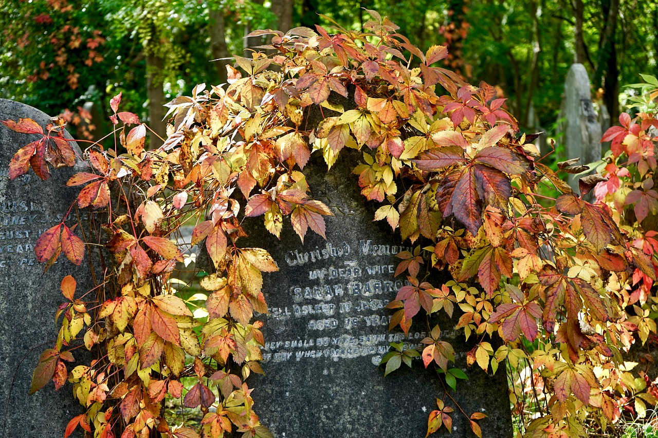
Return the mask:
<path fill-rule="evenodd" d="M 469 365 L 504 372 L 505 361 L 530 364 L 543 409 L 526 436 L 586 436 L 587 420 L 605 427 L 619 418 L 615 364 L 633 329 L 623 311 L 628 287 L 656 277 L 613 210 L 585 199 L 605 178 L 581 178 L 574 193 L 540 162 L 536 135 L 517 134 L 491 85 L 467 84 L 436 66 L 445 47 L 422 53 L 388 18 L 368 14 L 361 32 L 336 23 L 333 34 L 320 26 L 253 32 L 271 36 L 269 51 L 236 56 L 228 84 L 199 84 L 168 103 L 168 137 L 155 150 L 145 149 L 147 126 L 120 111 L 121 95 L 112 99 L 113 144 L 86 149 L 89 170 L 67 183 L 81 187 L 71 210 L 89 208 L 103 222 L 89 235 L 109 254 L 107 265 L 92 291 L 63 279 L 57 343 L 42 354 L 32 386 L 72 383 L 86 412 L 66 436 L 76 427 L 102 438 L 271 436 L 247 379 L 262 372 L 263 322 L 254 312 L 267 313 L 262 273 L 276 264 L 251 246 L 242 220 L 262 216 L 277 237 L 284 226 L 302 240 L 309 228 L 324 236 L 323 216 L 332 212 L 311 198 L 300 170 L 312 153 L 330 169 L 345 147 L 363 155 L 353 173 L 366 199 L 381 204 L 374 220 L 417 245 L 398 255 L 395 274 L 407 285 L 388 305 L 391 329 L 408 333 L 414 318 L 455 314 L 476 341 Z M 61 126 L 44 134 L 28 119 L 3 123 L 43 135 L 16 153 L 11 179 L 30 168 L 46 179 L 50 166 L 73 164 Z M 582 170 L 574 160 L 559 168 Z M 542 185 L 562 194 L 548 199 Z M 176 230 L 191 222 L 191 244 L 207 251 L 214 271 L 201 279 L 205 303 L 186 302 L 172 287 L 190 251 Z M 43 233 L 39 262 L 47 269 L 64 253 L 82 263 L 77 232 L 62 223 Z M 452 280 L 430 283 L 437 270 Z M 195 317 L 194 306 L 207 316 Z M 441 337 L 449 328 L 433 326 L 422 354 L 397 345 L 384 358 L 386 374 L 422 356 L 449 387 L 466 377 L 449 368 L 453 347 Z M 494 348 L 492 337 L 503 345 Z M 82 345 L 95 358 L 73 366 Z M 446 397 L 430 413 L 428 435 L 465 414 L 481 436 L 484 414 L 453 410 Z M 199 428 L 166 418 L 166 398 L 198 408 Z"/>

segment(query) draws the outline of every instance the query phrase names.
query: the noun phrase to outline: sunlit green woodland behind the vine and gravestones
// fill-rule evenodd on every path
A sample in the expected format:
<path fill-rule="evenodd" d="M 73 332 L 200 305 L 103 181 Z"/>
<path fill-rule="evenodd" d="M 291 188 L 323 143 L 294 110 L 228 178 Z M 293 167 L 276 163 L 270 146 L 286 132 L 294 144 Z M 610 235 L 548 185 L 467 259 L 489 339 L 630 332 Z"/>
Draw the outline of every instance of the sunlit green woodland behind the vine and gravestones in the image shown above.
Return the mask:
<path fill-rule="evenodd" d="M 524 130 L 555 131 L 563 84 L 582 62 L 595 106 L 619 114 L 620 84 L 656 69 L 658 3 L 640 0 L 5 0 L 0 5 L 0 94 L 64 113 L 78 137 L 109 132 L 109 99 L 164 134 L 163 103 L 195 84 L 218 84 L 225 64 L 263 43 L 257 28 L 345 28 L 390 16 L 421 49 L 447 44 L 445 61 L 472 84 L 508 97 Z M 248 56 L 248 55 L 247 55 Z"/>

